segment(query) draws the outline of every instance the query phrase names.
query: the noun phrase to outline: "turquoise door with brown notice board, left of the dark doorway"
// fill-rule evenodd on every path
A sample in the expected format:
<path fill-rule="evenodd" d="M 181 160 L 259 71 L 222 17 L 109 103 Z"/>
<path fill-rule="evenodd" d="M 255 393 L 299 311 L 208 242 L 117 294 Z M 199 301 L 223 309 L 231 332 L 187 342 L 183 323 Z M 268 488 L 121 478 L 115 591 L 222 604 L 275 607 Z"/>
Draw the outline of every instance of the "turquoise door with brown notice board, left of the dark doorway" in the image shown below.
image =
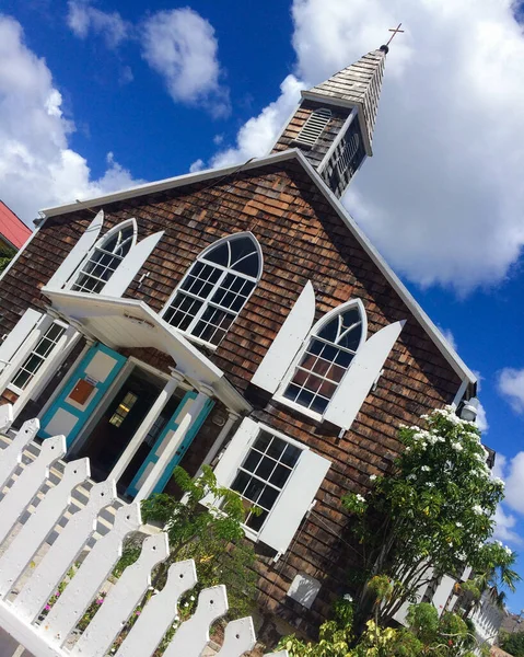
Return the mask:
<path fill-rule="evenodd" d="M 96 344 L 69 377 L 61 393 L 40 419 L 40 438 L 62 434 L 68 448 L 107 392 L 127 358 Z"/>

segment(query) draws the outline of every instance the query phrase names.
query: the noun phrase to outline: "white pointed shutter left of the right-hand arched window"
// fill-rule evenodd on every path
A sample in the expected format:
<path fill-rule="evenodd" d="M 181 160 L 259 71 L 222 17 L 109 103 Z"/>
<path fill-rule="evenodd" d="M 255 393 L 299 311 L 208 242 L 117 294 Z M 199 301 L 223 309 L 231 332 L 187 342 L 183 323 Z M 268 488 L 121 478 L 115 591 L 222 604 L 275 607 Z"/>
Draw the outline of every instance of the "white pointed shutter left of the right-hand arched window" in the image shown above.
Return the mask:
<path fill-rule="evenodd" d="M 252 383 L 276 392 L 315 319 L 315 290 L 308 280 L 264 356 Z"/>

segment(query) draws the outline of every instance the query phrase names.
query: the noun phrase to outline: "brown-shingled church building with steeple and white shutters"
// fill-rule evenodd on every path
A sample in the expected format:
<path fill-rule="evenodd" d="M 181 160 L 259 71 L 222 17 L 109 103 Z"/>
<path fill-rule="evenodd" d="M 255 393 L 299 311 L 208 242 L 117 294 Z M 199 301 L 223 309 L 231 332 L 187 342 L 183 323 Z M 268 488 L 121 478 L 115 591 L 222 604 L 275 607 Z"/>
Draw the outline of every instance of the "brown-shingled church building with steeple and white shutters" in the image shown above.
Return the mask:
<path fill-rule="evenodd" d="M 342 495 L 391 469 L 400 424 L 476 394 L 339 201 L 386 55 L 302 92 L 265 157 L 44 210 L 0 280 L 14 425 L 65 435 L 127 500 L 211 465 L 261 509 L 260 606 L 301 629 L 349 592 Z"/>

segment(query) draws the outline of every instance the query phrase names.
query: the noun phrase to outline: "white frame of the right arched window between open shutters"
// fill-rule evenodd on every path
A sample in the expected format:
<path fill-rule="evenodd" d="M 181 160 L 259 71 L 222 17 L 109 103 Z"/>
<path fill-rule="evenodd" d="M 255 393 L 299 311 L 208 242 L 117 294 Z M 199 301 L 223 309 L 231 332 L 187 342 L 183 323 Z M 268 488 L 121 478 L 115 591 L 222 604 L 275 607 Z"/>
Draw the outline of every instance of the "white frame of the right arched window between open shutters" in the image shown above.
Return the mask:
<path fill-rule="evenodd" d="M 276 402 L 278 402 L 280 404 L 283 404 L 286 406 L 289 406 L 290 408 L 293 408 L 294 411 L 299 411 L 300 413 L 302 413 L 303 415 L 306 415 L 307 417 L 311 417 L 312 419 L 316 419 L 316 420 L 319 420 L 319 422 L 322 422 L 324 419 L 324 416 L 326 415 L 327 410 L 329 408 L 329 403 L 333 400 L 333 397 L 335 396 L 336 390 L 338 390 L 338 388 L 340 388 L 340 385 L 342 384 L 342 381 L 348 376 L 348 372 L 351 369 L 351 364 L 349 365 L 349 367 L 347 368 L 347 370 L 343 373 L 342 378 L 338 382 L 337 389 L 335 390 L 335 392 L 334 392 L 334 394 L 331 396 L 331 400 L 329 400 L 326 408 L 324 410 L 324 413 L 318 413 L 317 411 L 312 411 L 311 408 L 306 408 L 305 406 L 302 406 L 301 404 L 298 404 L 296 402 L 293 402 L 292 400 L 289 400 L 288 397 L 284 396 L 284 391 L 287 390 L 288 385 L 291 383 L 291 380 L 294 377 L 294 373 L 296 371 L 296 367 L 299 366 L 299 362 L 302 359 L 304 350 L 310 345 L 311 339 L 313 337 L 315 337 L 317 335 L 317 333 L 327 323 L 329 323 L 336 315 L 346 312 L 352 306 L 354 306 L 354 307 L 357 307 L 359 309 L 360 316 L 361 316 L 361 322 L 362 322 L 362 332 L 361 332 L 361 335 L 360 335 L 360 343 L 359 343 L 359 346 L 356 349 L 356 355 L 358 354 L 359 349 L 365 343 L 366 337 L 368 337 L 368 315 L 366 315 L 365 308 L 364 308 L 364 304 L 362 303 L 361 299 L 350 299 L 349 301 L 346 301 L 341 306 L 338 306 L 337 308 L 334 308 L 333 310 L 330 310 L 329 312 L 327 312 L 323 318 L 321 318 L 318 320 L 318 322 L 316 322 L 312 326 L 311 331 L 308 332 L 308 334 L 306 335 L 305 339 L 302 342 L 299 350 L 296 351 L 295 357 L 291 361 L 291 365 L 288 368 L 288 371 L 286 372 L 284 378 L 280 382 L 280 385 L 278 387 L 277 392 L 273 395 L 273 400 Z M 353 356 L 353 359 L 354 359 L 354 356 Z"/>

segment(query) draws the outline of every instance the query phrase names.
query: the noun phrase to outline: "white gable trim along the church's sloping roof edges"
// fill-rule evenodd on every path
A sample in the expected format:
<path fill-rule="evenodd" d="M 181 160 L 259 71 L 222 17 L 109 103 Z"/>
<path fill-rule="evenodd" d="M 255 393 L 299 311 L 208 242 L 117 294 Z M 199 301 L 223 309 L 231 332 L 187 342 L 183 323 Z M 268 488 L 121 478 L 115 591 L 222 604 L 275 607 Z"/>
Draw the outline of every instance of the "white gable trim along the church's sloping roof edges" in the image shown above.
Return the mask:
<path fill-rule="evenodd" d="M 305 96 L 304 96 L 305 97 Z M 323 96 L 323 102 L 327 102 L 327 97 Z M 354 104 L 348 104 L 348 106 L 354 106 Z M 394 290 L 398 293 L 398 296 L 403 299 L 403 301 L 408 306 L 409 310 L 416 316 L 416 319 L 420 322 L 421 326 L 434 342 L 435 346 L 439 348 L 441 354 L 447 360 L 447 362 L 452 366 L 453 370 L 459 376 L 461 379 L 467 379 L 469 383 L 476 383 L 477 377 L 471 372 L 471 370 L 465 365 L 458 354 L 445 342 L 442 333 L 439 328 L 433 324 L 430 318 L 426 314 L 426 312 L 421 309 L 419 303 L 415 300 L 412 295 L 409 292 L 407 287 L 401 283 L 398 276 L 393 272 L 389 265 L 385 262 L 382 255 L 376 251 L 376 249 L 371 244 L 368 238 L 364 235 L 362 230 L 357 226 L 354 220 L 348 214 L 348 211 L 340 204 L 338 198 L 333 194 L 329 187 L 324 183 L 318 173 L 313 169 L 310 164 L 305 155 L 299 149 L 290 149 L 287 151 L 282 151 L 279 153 L 275 153 L 271 155 L 267 155 L 265 158 L 259 158 L 255 160 L 248 160 L 244 164 L 235 165 L 235 166 L 226 166 L 224 169 L 213 169 L 208 171 L 201 171 L 195 174 L 185 174 L 179 175 L 172 178 L 166 178 L 164 181 L 160 181 L 156 183 L 149 183 L 147 185 L 139 185 L 131 189 L 125 189 L 124 192 L 117 192 L 115 194 L 108 194 L 106 196 L 100 196 L 97 198 L 93 198 L 90 200 L 85 200 L 82 203 L 69 204 L 63 206 L 57 206 L 54 208 L 49 208 L 44 210 L 46 217 L 56 217 L 58 215 L 63 215 L 66 212 L 71 212 L 74 210 L 80 210 L 83 208 L 92 208 L 93 206 L 100 206 L 107 203 L 115 203 L 117 200 L 124 200 L 128 198 L 135 198 L 137 196 L 143 196 L 145 194 L 153 194 L 155 192 L 163 192 L 166 189 L 172 189 L 176 187 L 181 187 L 184 185 L 190 185 L 193 183 L 198 183 L 201 181 L 220 178 L 229 175 L 230 173 L 234 173 L 236 171 L 248 171 L 251 169 L 256 169 L 259 166 L 264 166 L 265 164 L 275 164 L 276 162 L 283 162 L 286 160 L 299 160 L 302 163 L 304 170 L 310 174 L 311 180 L 316 184 L 318 189 L 324 194 L 325 198 L 329 201 L 335 211 L 339 215 L 342 221 L 348 227 L 351 234 L 357 239 L 357 241 L 362 245 L 364 251 L 371 257 L 371 260 L 375 263 L 379 269 L 382 272 L 384 277 L 387 279 L 389 285 L 394 288 Z M 20 252 L 19 252 L 20 253 Z"/>

